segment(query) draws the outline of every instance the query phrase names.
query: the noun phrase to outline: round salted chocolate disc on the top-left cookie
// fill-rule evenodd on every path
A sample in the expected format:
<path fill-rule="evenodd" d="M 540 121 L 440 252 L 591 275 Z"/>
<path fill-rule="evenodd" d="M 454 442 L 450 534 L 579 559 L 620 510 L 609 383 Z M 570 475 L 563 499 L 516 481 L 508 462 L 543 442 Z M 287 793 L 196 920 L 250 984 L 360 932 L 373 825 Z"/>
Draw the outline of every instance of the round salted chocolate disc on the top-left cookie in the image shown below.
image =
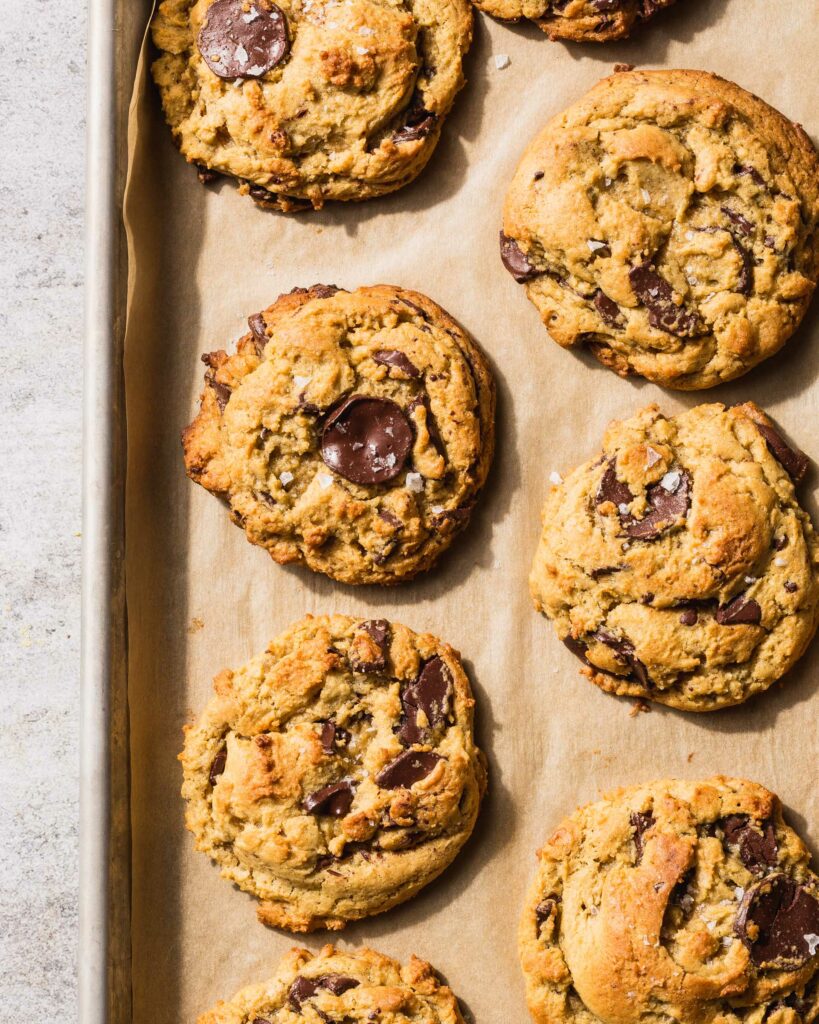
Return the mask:
<path fill-rule="evenodd" d="M 197 39 L 205 63 L 219 78 L 261 78 L 290 49 L 285 15 L 271 0 L 216 0 Z"/>

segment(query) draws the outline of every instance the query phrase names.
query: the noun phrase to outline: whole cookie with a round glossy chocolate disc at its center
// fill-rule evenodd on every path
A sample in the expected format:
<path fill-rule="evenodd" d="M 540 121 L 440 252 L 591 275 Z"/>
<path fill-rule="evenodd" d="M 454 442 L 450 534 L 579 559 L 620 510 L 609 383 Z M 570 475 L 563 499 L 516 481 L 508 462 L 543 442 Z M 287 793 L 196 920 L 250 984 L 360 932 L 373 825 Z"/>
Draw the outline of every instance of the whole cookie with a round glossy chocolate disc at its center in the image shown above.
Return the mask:
<path fill-rule="evenodd" d="M 212 352 L 187 473 L 277 562 L 344 583 L 428 568 L 469 520 L 493 450 L 494 385 L 417 292 L 296 289 Z"/>

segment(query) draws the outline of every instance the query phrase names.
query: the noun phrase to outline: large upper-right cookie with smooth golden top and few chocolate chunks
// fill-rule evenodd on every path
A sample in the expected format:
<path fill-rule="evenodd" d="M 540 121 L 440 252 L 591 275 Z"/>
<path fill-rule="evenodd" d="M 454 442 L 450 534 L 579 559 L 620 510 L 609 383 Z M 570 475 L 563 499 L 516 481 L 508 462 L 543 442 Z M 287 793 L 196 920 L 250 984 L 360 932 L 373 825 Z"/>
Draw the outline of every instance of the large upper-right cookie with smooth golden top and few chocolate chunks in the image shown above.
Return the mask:
<path fill-rule="evenodd" d="M 559 345 L 697 389 L 793 334 L 818 223 L 819 158 L 799 125 L 705 72 L 631 72 L 529 145 L 501 258 Z"/>

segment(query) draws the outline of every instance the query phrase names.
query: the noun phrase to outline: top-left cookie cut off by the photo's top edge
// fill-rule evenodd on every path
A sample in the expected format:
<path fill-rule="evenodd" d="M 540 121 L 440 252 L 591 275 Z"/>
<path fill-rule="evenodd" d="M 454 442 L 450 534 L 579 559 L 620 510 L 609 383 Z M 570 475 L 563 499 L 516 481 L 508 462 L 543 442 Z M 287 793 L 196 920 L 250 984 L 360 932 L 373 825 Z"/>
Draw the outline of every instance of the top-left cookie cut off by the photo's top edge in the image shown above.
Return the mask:
<path fill-rule="evenodd" d="M 165 116 L 203 181 L 318 209 L 406 184 L 432 156 L 472 39 L 468 0 L 162 0 Z"/>

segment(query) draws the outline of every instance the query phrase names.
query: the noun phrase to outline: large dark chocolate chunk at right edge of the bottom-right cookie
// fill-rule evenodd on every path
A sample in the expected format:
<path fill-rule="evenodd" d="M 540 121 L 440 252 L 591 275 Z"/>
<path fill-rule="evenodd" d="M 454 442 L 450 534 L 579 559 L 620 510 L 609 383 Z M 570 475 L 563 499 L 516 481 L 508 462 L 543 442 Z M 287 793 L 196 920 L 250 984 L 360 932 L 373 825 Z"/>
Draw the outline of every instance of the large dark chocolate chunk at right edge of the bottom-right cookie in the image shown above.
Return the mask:
<path fill-rule="evenodd" d="M 794 970 L 811 958 L 808 936 L 819 934 L 819 900 L 787 876 L 769 874 L 745 892 L 734 932 L 758 967 Z"/>

